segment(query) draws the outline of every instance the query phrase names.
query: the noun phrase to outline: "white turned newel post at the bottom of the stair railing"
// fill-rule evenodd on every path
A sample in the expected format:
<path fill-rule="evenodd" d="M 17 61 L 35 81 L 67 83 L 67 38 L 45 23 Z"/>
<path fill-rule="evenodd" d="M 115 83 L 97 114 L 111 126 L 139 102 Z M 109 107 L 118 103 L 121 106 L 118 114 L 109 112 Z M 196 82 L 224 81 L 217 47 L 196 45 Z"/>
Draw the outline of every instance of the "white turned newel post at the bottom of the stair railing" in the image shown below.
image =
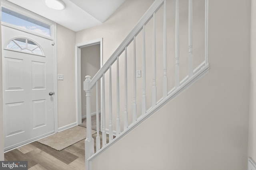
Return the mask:
<path fill-rule="evenodd" d="M 94 154 L 94 139 L 92 138 L 92 118 L 91 118 L 91 89 L 89 89 L 91 76 L 86 76 L 84 80 L 84 91 L 86 92 L 86 139 L 85 161 L 86 170 L 89 170 L 88 158 Z"/>

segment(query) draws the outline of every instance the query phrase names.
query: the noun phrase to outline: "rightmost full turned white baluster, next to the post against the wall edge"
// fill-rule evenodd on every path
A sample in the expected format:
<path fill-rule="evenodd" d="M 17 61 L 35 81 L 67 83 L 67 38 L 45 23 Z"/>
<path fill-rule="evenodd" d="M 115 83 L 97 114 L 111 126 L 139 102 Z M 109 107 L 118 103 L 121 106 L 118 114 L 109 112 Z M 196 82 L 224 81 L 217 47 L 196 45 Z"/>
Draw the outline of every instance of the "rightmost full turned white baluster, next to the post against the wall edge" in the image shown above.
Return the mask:
<path fill-rule="evenodd" d="M 188 0 L 188 77 L 193 76 L 193 0 Z"/>

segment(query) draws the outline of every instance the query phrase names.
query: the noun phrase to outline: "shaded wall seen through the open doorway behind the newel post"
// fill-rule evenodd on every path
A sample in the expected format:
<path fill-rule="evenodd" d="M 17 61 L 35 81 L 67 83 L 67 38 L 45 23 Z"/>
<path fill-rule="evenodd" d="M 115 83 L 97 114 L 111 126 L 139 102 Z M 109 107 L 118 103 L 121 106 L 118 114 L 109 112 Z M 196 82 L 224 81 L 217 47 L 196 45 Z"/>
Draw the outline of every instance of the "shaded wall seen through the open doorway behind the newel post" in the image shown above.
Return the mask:
<path fill-rule="evenodd" d="M 93 77 L 100 69 L 100 44 L 90 45 L 81 48 L 81 103 L 82 116 L 86 115 L 86 92 L 84 91 L 85 76 Z M 100 94 L 100 83 L 98 84 L 98 93 Z M 91 111 L 96 112 L 96 90 L 91 92 Z M 99 100 L 100 102 L 100 100 Z M 100 105 L 100 103 L 99 103 Z M 100 109 L 100 108 L 99 108 Z"/>

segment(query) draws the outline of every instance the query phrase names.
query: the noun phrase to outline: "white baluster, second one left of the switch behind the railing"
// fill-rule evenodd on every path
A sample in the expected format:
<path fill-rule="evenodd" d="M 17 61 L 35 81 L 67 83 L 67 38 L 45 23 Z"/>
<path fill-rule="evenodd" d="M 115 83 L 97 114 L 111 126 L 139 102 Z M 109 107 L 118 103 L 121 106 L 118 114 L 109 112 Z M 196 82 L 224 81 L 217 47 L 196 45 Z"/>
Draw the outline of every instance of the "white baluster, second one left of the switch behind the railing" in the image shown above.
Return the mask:
<path fill-rule="evenodd" d="M 127 113 L 127 47 L 124 49 L 124 130 L 128 127 Z"/>

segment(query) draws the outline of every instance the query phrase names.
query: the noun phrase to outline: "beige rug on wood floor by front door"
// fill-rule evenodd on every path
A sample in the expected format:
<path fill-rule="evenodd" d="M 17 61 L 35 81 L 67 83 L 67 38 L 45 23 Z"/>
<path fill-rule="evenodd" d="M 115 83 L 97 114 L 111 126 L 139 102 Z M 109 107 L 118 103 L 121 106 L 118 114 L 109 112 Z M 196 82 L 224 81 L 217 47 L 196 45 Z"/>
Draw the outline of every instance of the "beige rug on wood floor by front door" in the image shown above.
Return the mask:
<path fill-rule="evenodd" d="M 92 134 L 96 131 L 92 130 Z M 38 140 L 39 143 L 47 145 L 56 150 L 62 150 L 74 143 L 86 138 L 86 128 L 75 126 L 70 129 L 55 133 L 43 139 Z"/>

